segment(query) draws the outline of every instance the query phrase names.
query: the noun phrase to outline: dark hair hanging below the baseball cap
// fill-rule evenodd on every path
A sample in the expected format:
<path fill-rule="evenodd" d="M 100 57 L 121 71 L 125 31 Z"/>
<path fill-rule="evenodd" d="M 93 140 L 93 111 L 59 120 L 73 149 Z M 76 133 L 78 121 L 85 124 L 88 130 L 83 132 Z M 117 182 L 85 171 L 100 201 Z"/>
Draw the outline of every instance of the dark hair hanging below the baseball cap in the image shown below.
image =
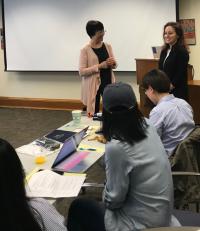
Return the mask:
<path fill-rule="evenodd" d="M 112 113 L 103 108 L 103 135 L 107 141 L 112 138 L 134 144 L 146 137 L 147 123 L 137 104 L 127 109 L 112 108 Z"/>

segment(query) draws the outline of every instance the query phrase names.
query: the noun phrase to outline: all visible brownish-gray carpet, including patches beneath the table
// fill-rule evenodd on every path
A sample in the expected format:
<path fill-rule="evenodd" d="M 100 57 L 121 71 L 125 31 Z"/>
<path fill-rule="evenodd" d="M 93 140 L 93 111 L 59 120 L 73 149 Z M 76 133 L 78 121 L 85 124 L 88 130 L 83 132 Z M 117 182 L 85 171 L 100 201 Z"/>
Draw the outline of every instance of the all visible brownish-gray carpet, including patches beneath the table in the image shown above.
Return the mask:
<path fill-rule="evenodd" d="M 35 110 L 22 108 L 0 108 L 0 137 L 9 141 L 15 148 L 30 143 L 63 124 L 72 120 L 70 111 Z M 105 174 L 100 161 L 87 171 L 87 182 L 104 182 Z M 102 189 L 88 188 L 80 196 L 101 199 Z M 57 200 L 57 210 L 67 215 L 68 207 L 74 198 Z"/>

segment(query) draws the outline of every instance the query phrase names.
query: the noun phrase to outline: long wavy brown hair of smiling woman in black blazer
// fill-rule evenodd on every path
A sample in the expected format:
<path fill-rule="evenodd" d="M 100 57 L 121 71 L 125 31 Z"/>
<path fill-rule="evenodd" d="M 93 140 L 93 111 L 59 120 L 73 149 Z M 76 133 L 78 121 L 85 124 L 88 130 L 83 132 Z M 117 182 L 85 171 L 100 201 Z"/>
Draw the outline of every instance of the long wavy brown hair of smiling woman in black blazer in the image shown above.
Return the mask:
<path fill-rule="evenodd" d="M 168 26 L 171 26 L 175 30 L 176 34 L 178 35 L 178 39 L 177 39 L 177 42 L 175 45 L 184 47 L 189 52 L 188 45 L 185 42 L 183 28 L 179 22 L 166 23 L 164 25 L 164 28 L 163 28 L 163 38 L 164 38 L 164 34 L 165 34 L 165 28 Z M 167 50 L 168 48 L 169 48 L 169 44 L 163 45 L 163 50 Z"/>

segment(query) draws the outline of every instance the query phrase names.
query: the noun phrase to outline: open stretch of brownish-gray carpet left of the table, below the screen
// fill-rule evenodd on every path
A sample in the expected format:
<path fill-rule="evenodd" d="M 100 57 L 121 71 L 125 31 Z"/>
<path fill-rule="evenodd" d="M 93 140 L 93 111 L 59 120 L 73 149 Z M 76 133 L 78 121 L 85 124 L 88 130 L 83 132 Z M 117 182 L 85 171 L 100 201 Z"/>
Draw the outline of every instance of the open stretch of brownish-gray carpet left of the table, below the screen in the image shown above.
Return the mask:
<path fill-rule="evenodd" d="M 17 148 L 71 119 L 69 111 L 0 108 L 0 137 Z"/>

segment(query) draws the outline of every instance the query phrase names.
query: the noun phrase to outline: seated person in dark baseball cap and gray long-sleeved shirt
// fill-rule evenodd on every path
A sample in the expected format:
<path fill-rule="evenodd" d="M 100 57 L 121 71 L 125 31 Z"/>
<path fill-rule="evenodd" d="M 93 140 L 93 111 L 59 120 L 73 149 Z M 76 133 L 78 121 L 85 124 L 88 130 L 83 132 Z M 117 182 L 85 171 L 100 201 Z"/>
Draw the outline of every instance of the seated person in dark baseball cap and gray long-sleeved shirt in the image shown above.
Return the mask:
<path fill-rule="evenodd" d="M 79 230 L 87 231 L 179 225 L 172 216 L 173 183 L 167 155 L 156 129 L 139 111 L 130 85 L 116 83 L 105 88 L 102 129 L 107 140 L 103 206 L 90 204 L 89 199 L 75 200 L 68 213 L 68 229 L 78 230 L 73 229 L 77 223 Z M 97 229 L 86 227 L 95 214 Z"/>

